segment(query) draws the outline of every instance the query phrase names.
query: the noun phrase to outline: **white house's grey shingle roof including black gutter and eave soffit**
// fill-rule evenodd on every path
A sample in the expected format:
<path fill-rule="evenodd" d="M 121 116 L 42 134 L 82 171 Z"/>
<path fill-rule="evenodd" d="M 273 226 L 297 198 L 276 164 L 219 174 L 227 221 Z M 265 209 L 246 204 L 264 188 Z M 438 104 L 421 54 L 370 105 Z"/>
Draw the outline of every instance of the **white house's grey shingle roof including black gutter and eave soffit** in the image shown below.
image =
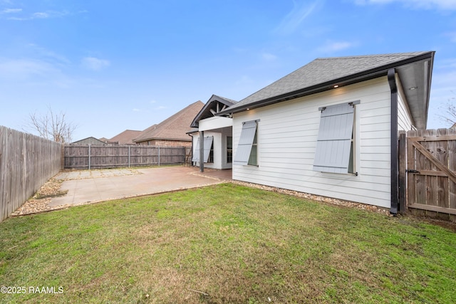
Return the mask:
<path fill-rule="evenodd" d="M 262 88 L 219 115 L 242 112 L 247 108 L 280 103 L 285 100 L 331 90 L 334 85 L 349 85 L 387 75 L 395 68 L 403 84 L 415 126 L 425 128 L 429 108 L 434 51 L 368 56 L 317 58 L 311 63 Z M 409 90 L 415 88 L 414 90 Z"/>

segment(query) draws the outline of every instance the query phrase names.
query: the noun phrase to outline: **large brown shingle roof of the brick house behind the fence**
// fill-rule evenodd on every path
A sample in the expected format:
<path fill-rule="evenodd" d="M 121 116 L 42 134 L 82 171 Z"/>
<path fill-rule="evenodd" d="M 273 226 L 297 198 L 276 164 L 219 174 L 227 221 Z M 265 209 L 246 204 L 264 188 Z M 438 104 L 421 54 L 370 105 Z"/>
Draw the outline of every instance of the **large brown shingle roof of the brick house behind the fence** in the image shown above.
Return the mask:
<path fill-rule="evenodd" d="M 196 103 L 192 103 L 158 125 L 148 127 L 133 142 L 145 142 L 147 140 L 191 141 L 192 138 L 186 133 L 192 131 L 189 126 L 203 106 L 204 103 L 199 100 Z"/>

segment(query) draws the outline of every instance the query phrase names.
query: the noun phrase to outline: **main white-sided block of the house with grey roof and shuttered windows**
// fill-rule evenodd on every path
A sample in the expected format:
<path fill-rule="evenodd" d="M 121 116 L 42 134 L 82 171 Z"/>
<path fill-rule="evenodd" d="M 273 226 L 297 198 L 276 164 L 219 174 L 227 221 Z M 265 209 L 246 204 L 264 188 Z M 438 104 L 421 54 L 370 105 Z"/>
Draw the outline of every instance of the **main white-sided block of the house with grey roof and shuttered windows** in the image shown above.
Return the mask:
<path fill-rule="evenodd" d="M 233 179 L 397 213 L 398 131 L 426 128 L 434 55 L 317 58 L 220 110 Z"/>

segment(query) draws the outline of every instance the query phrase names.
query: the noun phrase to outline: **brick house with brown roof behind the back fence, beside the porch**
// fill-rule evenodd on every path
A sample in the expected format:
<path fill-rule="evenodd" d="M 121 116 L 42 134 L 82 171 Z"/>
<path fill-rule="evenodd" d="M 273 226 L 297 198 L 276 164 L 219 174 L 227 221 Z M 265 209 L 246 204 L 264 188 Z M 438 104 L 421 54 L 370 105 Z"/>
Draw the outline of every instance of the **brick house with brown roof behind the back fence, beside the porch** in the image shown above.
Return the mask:
<path fill-rule="evenodd" d="M 152 125 L 140 132 L 133 142 L 160 147 L 192 147 L 192 137 L 187 135 L 187 132 L 192 131 L 189 126 L 203 106 L 204 103 L 199 100 L 192 103 L 158 125 Z"/>

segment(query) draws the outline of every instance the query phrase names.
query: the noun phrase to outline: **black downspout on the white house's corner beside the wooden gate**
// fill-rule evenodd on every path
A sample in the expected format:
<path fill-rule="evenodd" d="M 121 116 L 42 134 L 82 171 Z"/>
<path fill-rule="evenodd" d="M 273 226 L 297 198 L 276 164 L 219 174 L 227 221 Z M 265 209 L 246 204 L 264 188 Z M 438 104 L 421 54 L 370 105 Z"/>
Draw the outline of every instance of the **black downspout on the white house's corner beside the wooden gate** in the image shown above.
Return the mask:
<path fill-rule="evenodd" d="M 395 82 L 395 69 L 388 70 L 388 84 L 391 90 L 391 206 L 390 214 L 398 214 L 399 177 L 398 177 L 398 86 Z"/>

